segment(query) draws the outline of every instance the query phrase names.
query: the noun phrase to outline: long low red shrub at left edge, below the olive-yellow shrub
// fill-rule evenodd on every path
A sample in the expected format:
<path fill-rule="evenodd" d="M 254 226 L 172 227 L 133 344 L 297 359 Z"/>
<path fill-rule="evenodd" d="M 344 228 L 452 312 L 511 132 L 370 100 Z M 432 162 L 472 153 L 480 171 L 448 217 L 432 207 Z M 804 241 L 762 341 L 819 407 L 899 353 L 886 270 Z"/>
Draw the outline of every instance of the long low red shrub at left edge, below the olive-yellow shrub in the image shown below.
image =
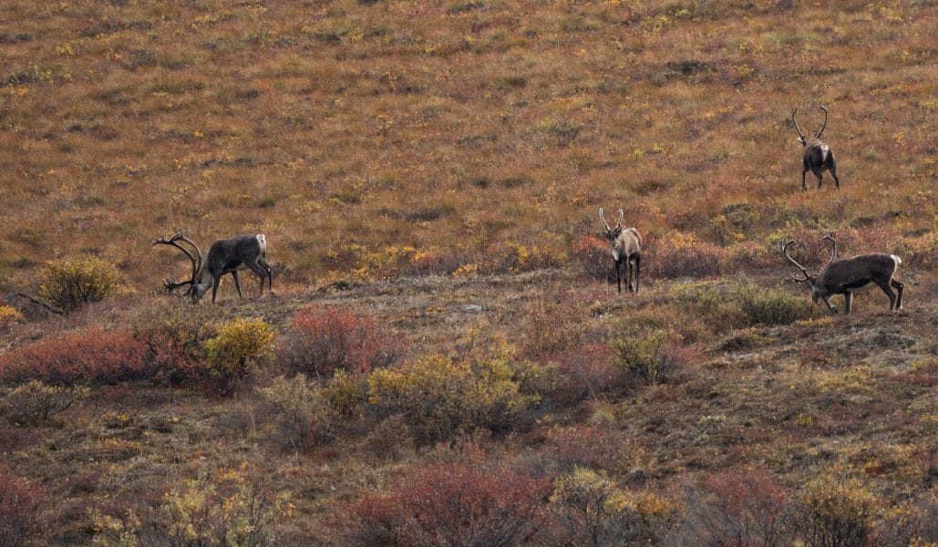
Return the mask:
<path fill-rule="evenodd" d="M 34 342 L 0 356 L 0 381 L 109 384 L 146 377 L 148 348 L 125 330 L 100 327 Z"/>

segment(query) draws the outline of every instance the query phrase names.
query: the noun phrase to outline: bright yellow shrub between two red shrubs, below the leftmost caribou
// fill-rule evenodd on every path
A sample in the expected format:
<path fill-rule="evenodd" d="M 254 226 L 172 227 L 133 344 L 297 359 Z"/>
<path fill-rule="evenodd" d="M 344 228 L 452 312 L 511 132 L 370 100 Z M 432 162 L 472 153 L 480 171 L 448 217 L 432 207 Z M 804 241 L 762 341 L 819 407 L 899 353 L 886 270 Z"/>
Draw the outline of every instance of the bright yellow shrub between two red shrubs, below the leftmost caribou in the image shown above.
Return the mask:
<path fill-rule="evenodd" d="M 205 387 L 224 392 L 244 380 L 257 359 L 273 349 L 275 331 L 263 319 L 238 317 L 219 325 L 218 332 L 204 342 L 206 359 L 197 373 Z"/>

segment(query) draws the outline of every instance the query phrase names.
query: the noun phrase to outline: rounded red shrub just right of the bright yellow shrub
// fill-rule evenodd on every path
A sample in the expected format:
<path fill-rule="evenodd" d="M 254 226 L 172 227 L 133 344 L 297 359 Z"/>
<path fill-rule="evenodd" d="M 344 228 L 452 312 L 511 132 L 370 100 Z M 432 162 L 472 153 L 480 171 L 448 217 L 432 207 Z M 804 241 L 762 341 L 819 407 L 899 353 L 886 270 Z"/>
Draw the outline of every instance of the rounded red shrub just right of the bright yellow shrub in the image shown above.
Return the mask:
<path fill-rule="evenodd" d="M 280 339 L 278 357 L 289 372 L 328 377 L 371 372 L 401 359 L 405 344 L 371 317 L 349 311 L 300 311 Z"/>

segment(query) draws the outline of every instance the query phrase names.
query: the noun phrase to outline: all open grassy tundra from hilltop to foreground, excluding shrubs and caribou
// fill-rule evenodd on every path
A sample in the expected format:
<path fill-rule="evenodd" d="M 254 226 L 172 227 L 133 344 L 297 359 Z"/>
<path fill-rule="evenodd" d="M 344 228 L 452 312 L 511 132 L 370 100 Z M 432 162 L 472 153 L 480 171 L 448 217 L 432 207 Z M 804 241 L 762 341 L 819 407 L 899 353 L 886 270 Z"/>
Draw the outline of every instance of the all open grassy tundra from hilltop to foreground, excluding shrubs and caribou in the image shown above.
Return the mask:
<path fill-rule="evenodd" d="M 21 287 L 50 258 L 94 251 L 149 292 L 178 267 L 149 250 L 152 237 L 257 230 L 271 241 L 281 295 L 226 302 L 226 314 L 282 325 L 310 302 L 353 307 L 405 330 L 416 353 L 473 336 L 518 341 L 544 300 L 589 310 L 584 328 L 598 339 L 629 317 L 659 321 L 705 348 L 684 381 L 569 409 L 489 442 L 492 457 L 550 460 L 537 455 L 545 431 L 594 420 L 632 439 L 627 457 L 605 463 L 613 476 L 641 467 L 662 490 L 764 464 L 790 486 L 833 468 L 868 477 L 887 499 L 922 495 L 933 465 L 923 448 L 936 442 L 935 8 L 742 4 L 4 2 L 0 199 L 16 206 L 0 223 L 0 284 Z M 814 127 L 816 104 L 831 113 L 836 193 L 797 191 L 788 118 L 799 105 L 802 126 Z M 719 240 L 711 219 L 736 203 L 757 214 Z M 396 275 L 404 268 L 376 256 L 404 246 L 433 259 L 416 271 L 484 263 L 506 240 L 564 266 L 599 206 L 628 206 L 652 253 L 675 231 L 732 251 L 768 249 L 808 225 L 855 227 L 843 254 L 932 258 L 903 270 L 910 312 L 886 314 L 882 295 L 862 296 L 849 320 L 817 312 L 813 323 L 754 333 L 688 322 L 669 281 L 617 300 L 572 268 L 299 288 Z M 131 295 L 5 336 L 119 324 L 148 302 Z M 740 338 L 749 342 L 730 342 Z M 42 541 L 86 541 L 85 508 L 100 500 L 159 498 L 167 478 L 249 461 L 295 496 L 283 533 L 327 542 L 320 517 L 336 503 L 446 457 L 439 448 L 375 459 L 355 435 L 282 454 L 246 425 L 248 396 L 142 386 L 96 395 L 4 454 L 57 498 L 44 506 Z"/>

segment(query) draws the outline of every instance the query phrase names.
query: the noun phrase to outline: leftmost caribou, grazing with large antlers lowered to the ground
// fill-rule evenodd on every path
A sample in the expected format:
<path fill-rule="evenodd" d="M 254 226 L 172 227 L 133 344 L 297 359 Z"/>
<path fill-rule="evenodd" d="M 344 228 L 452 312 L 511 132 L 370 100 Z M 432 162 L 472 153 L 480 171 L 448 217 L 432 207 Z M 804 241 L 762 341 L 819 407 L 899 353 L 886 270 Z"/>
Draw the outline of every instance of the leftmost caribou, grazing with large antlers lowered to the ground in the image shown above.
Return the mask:
<path fill-rule="evenodd" d="M 187 243 L 191 249 L 183 247 L 180 243 Z M 208 287 L 212 288 L 212 302 L 215 302 L 215 296 L 219 292 L 219 281 L 221 276 L 230 273 L 234 278 L 234 287 L 237 289 L 237 296 L 241 295 L 241 282 L 238 281 L 237 272 L 239 269 L 250 269 L 257 274 L 261 280 L 261 296 L 264 296 L 264 281 L 267 280 L 267 292 L 273 290 L 274 272 L 267 264 L 267 238 L 264 234 L 249 236 L 237 236 L 231 239 L 219 239 L 208 249 L 208 255 L 203 258 L 202 251 L 189 237 L 180 230 L 174 236 L 166 239 L 160 237 L 154 240 L 153 245 L 169 245 L 179 251 L 183 251 L 192 262 L 192 276 L 186 281 L 175 281 L 167 279 L 163 281 L 166 292 L 171 293 L 176 288 L 183 285 L 189 285 L 185 296 L 193 304 L 197 303 Z"/>

